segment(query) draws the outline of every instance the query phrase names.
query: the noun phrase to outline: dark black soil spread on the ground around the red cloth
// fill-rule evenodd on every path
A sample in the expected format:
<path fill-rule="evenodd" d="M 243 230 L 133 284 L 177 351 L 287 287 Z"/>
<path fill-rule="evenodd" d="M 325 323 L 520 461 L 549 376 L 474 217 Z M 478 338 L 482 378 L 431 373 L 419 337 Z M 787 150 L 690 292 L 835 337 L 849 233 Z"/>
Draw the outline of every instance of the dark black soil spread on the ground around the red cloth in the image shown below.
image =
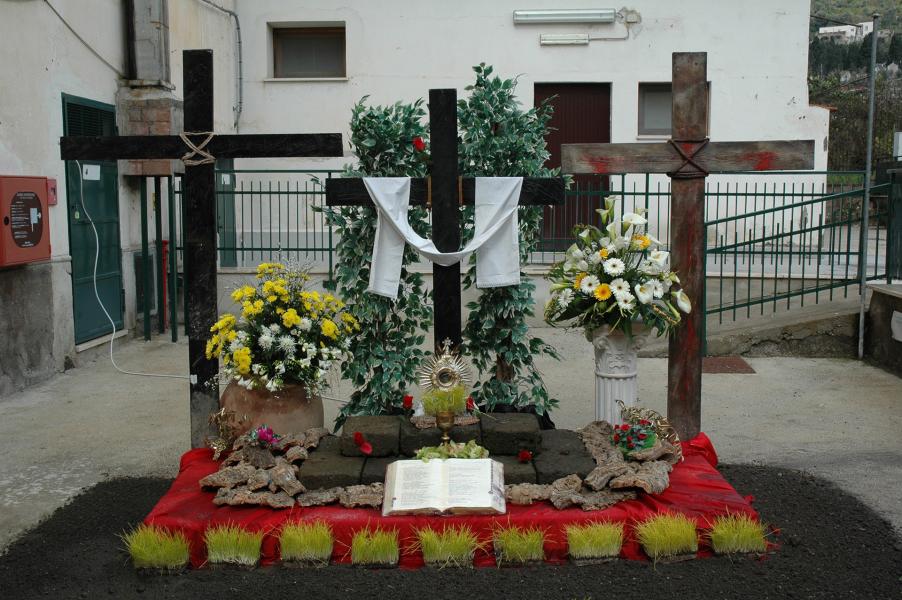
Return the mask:
<path fill-rule="evenodd" d="M 169 482 L 120 479 L 91 488 L 13 543 L 0 557 L 0 598 L 902 598 L 902 542 L 857 499 L 785 469 L 722 471 L 780 530 L 780 548 L 765 560 L 138 574 L 117 536 L 150 511 Z"/>

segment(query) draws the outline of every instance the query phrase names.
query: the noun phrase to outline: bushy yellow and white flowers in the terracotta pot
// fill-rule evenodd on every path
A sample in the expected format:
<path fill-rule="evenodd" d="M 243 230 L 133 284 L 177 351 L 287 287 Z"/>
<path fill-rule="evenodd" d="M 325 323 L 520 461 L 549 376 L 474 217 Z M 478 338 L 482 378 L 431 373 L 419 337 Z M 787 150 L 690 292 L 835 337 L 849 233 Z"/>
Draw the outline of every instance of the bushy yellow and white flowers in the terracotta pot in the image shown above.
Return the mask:
<path fill-rule="evenodd" d="M 302 384 L 319 392 L 329 370 L 352 358 L 360 324 L 332 294 L 308 290 L 309 279 L 301 269 L 260 264 L 257 285 L 232 292 L 241 314 L 226 313 L 210 328 L 207 358 L 220 359 L 226 375 L 248 389 Z"/>

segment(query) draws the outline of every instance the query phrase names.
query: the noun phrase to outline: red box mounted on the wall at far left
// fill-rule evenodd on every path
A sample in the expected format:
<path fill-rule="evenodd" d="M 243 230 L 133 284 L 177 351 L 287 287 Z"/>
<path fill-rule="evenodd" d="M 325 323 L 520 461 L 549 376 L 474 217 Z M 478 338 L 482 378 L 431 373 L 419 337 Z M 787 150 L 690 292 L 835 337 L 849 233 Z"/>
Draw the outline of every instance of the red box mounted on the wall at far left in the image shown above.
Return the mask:
<path fill-rule="evenodd" d="M 0 175 L 0 267 L 50 258 L 49 196 L 46 177 Z"/>

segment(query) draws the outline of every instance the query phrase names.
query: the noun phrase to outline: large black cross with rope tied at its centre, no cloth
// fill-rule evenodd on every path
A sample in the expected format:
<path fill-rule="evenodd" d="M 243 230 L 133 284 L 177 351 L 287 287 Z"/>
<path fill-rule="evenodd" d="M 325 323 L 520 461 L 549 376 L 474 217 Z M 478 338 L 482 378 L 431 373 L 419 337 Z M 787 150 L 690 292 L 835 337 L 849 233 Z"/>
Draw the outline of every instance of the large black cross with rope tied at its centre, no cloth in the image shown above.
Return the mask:
<path fill-rule="evenodd" d="M 185 50 L 183 90 L 185 131 L 191 143 L 215 158 L 342 156 L 341 134 L 212 135 L 213 51 Z M 191 383 L 191 444 L 199 447 L 211 433 L 208 418 L 219 408 L 219 363 L 204 350 L 216 322 L 216 183 L 212 160 L 190 150 L 177 135 L 60 138 L 63 160 L 185 160 L 185 294 Z M 187 152 L 190 154 L 190 152 Z M 200 163 L 200 164 L 196 164 Z M 173 325 L 175 326 L 175 325 Z"/>

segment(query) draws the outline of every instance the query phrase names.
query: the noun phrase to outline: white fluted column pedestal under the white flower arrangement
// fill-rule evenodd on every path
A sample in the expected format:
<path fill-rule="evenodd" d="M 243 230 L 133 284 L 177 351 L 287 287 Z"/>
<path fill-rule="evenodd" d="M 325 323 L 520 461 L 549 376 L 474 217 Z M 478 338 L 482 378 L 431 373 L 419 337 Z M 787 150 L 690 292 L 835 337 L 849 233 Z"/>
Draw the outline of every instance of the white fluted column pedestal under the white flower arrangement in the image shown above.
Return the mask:
<path fill-rule="evenodd" d="M 633 335 L 611 331 L 607 325 L 587 333 L 595 348 L 595 420 L 619 423 L 617 401 L 634 406 L 638 398 L 636 383 L 637 352 L 648 340 L 650 330 L 633 323 Z"/>

